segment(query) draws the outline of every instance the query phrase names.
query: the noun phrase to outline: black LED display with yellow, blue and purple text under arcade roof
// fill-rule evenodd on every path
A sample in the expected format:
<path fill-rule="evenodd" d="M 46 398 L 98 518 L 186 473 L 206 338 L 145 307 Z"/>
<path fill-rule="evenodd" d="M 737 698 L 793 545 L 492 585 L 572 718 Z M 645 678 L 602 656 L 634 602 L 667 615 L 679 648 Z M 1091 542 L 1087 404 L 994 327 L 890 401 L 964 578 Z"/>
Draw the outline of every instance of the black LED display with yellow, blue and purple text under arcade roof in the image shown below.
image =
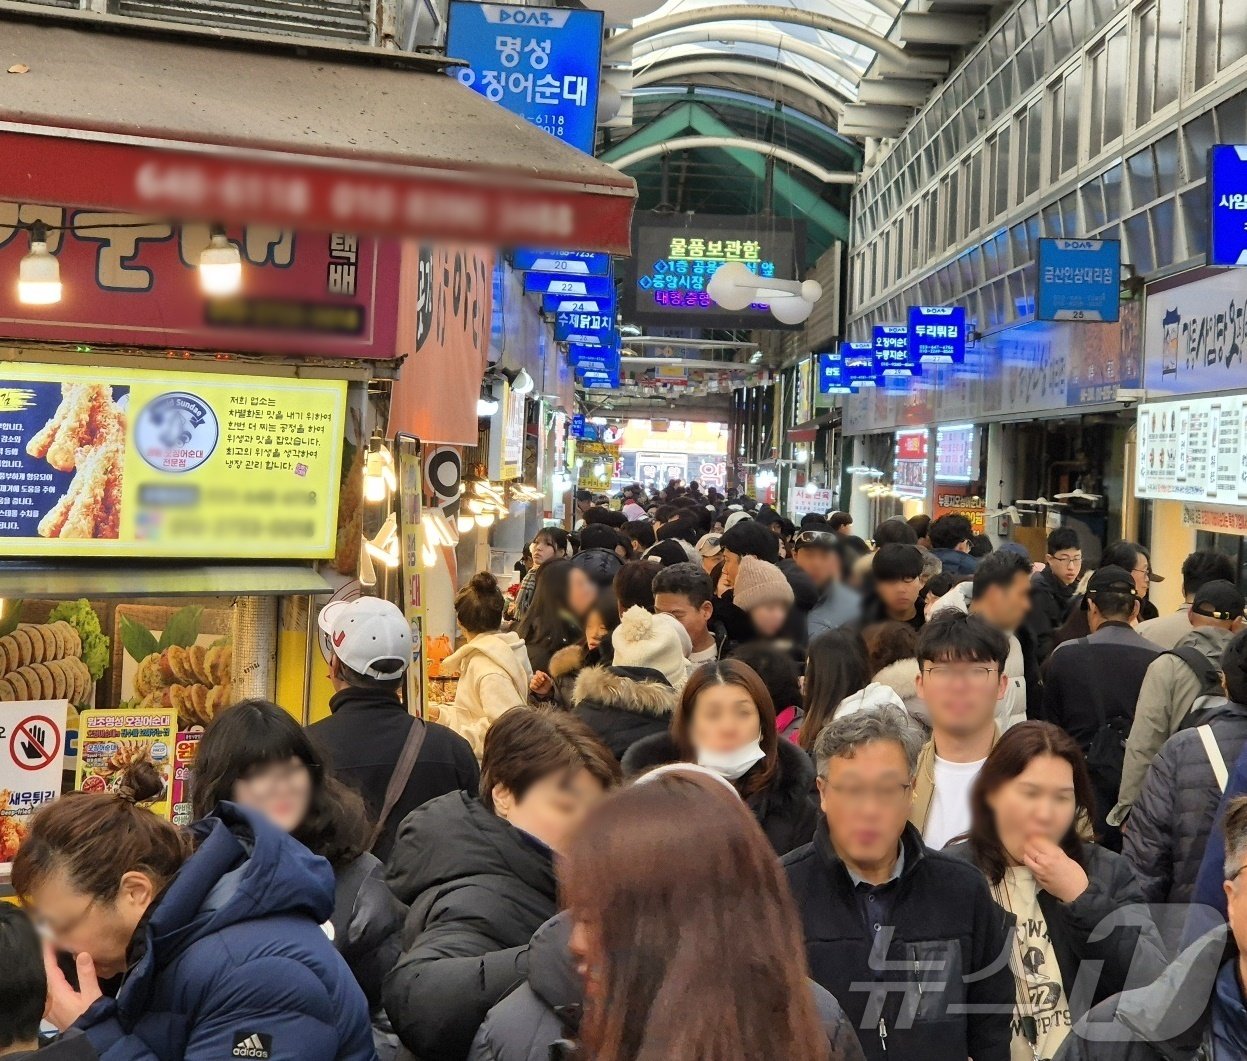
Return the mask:
<path fill-rule="evenodd" d="M 638 217 L 624 281 L 625 309 L 641 324 L 693 328 L 792 328 L 766 305 L 722 309 L 706 293 L 720 266 L 739 262 L 759 277 L 794 279 L 804 226 L 787 218 L 683 213 Z"/>

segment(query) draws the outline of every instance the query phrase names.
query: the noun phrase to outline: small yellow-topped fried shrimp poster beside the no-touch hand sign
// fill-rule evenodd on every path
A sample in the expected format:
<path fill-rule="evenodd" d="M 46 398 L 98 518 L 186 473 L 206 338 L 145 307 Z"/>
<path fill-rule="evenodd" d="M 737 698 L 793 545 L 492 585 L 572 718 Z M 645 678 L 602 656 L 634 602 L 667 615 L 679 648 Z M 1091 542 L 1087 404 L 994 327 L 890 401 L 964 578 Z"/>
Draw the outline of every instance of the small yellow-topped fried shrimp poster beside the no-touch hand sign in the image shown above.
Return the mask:
<path fill-rule="evenodd" d="M 175 711 L 84 711 L 79 717 L 75 787 L 82 792 L 116 792 L 126 779 L 126 772 L 146 762 L 156 768 L 163 787 L 160 795 L 140 807 L 170 818 L 176 747 Z"/>

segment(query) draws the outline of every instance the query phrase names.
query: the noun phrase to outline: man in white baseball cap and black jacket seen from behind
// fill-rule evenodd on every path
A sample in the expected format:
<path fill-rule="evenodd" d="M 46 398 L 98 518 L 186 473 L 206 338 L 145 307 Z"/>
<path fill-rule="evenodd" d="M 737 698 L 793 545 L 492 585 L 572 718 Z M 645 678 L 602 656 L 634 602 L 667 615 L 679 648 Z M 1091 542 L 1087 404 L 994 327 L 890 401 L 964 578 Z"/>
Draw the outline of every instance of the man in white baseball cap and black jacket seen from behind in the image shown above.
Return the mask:
<path fill-rule="evenodd" d="M 463 737 L 413 717 L 398 698 L 412 661 L 412 628 L 403 612 L 378 597 L 335 601 L 320 610 L 319 626 L 335 692 L 329 717 L 311 726 L 308 734 L 325 748 L 337 777 L 364 798 L 373 822 L 380 817 L 412 727 L 425 727 L 412 777 L 373 847 L 385 862 L 408 814 L 456 789 L 475 795 L 480 768 Z"/>

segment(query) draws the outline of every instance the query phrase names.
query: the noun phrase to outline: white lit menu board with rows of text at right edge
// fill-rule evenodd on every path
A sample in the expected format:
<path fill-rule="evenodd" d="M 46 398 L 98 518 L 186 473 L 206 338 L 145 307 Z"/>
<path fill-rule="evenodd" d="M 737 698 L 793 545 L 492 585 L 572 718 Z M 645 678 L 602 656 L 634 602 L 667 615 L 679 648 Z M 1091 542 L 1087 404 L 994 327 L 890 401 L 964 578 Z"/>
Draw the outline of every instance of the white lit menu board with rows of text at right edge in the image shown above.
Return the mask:
<path fill-rule="evenodd" d="M 1141 405 L 1136 465 L 1140 497 L 1247 505 L 1247 399 Z"/>

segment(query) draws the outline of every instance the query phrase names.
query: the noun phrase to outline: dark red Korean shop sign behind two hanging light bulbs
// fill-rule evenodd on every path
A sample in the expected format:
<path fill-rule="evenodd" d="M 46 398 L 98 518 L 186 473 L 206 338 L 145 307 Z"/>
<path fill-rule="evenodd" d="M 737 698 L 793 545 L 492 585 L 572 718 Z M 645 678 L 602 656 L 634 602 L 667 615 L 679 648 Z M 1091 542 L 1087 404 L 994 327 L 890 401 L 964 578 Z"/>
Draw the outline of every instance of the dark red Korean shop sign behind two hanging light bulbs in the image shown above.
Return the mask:
<path fill-rule="evenodd" d="M 0 286 L 5 335 L 196 350 L 393 358 L 398 322 L 397 241 L 345 232 L 231 227 L 243 289 L 208 299 L 200 252 L 208 226 L 127 213 L 0 202 L 0 272 L 17 274 L 29 249 L 17 228 L 49 224 L 64 293 L 51 307 L 17 302 Z M 62 227 L 75 231 L 60 231 Z"/>

